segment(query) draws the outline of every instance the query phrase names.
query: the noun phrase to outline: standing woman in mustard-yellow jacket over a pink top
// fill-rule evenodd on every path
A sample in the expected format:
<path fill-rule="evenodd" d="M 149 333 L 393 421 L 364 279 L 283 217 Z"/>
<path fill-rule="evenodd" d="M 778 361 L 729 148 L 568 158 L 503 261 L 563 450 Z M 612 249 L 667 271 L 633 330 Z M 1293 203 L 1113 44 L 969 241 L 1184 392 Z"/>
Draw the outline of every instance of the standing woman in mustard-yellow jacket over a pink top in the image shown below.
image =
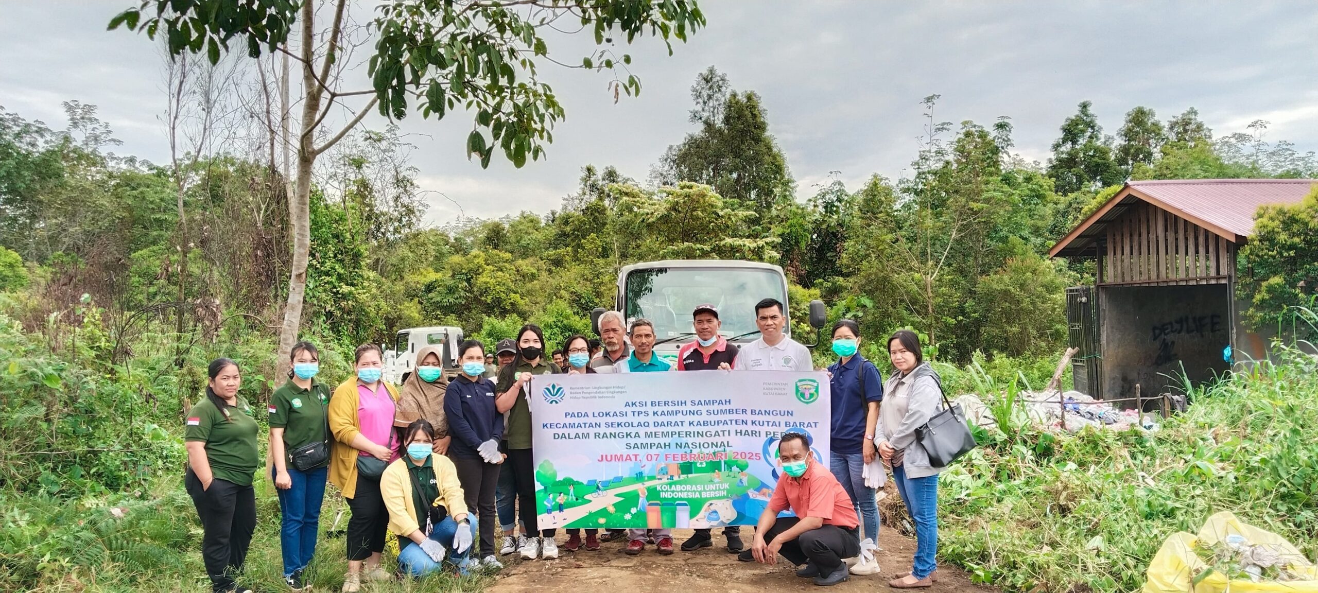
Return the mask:
<path fill-rule="evenodd" d="M 389 510 L 380 495 L 380 477 L 390 461 L 398 459 L 394 438 L 394 414 L 398 391 L 380 380 L 384 366 L 380 347 L 362 344 L 355 353 L 357 376 L 344 381 L 330 398 L 330 432 L 333 434 L 333 456 L 330 460 L 330 482 L 339 486 L 348 499 L 348 575 L 344 593 L 361 590 L 361 573 L 366 580 L 384 581 L 393 576 L 380 568 L 385 551 Z"/>

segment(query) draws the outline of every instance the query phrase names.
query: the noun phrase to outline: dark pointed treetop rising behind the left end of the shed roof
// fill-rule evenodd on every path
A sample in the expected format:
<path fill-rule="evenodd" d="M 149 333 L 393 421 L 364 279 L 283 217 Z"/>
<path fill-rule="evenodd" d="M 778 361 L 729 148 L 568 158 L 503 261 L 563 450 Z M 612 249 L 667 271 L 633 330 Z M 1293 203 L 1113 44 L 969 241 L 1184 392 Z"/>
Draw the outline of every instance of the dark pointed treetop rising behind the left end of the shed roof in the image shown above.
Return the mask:
<path fill-rule="evenodd" d="M 1061 137 L 1053 141 L 1053 158 L 1048 177 L 1058 194 L 1098 190 L 1124 181 L 1126 174 L 1112 159 L 1112 138 L 1103 136 L 1091 101 L 1081 101 L 1079 111 L 1062 123 Z"/>

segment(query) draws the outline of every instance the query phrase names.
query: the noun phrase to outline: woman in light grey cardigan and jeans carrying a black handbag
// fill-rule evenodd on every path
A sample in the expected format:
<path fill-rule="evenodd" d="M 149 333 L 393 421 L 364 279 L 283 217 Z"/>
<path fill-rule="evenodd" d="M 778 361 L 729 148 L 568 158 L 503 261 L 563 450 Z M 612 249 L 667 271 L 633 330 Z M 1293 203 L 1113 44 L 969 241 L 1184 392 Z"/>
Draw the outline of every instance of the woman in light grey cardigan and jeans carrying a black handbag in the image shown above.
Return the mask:
<path fill-rule="evenodd" d="M 920 352 L 920 337 L 902 329 L 888 339 L 888 356 L 896 373 L 883 386 L 879 423 L 874 441 L 879 456 L 892 468 L 892 481 L 902 493 L 911 519 L 915 521 L 915 563 L 911 573 L 888 582 L 894 589 L 919 589 L 933 585 L 938 567 L 938 473 L 945 468 L 929 465 L 929 455 L 915 440 L 915 430 L 937 414 L 942 401 L 941 380 Z"/>

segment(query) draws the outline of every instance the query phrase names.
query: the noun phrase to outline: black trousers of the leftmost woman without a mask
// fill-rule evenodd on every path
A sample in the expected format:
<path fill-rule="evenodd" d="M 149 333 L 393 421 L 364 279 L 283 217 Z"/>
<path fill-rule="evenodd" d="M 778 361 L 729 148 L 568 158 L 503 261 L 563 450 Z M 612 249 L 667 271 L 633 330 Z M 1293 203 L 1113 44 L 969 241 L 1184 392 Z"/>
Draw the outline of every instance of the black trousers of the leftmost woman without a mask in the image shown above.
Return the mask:
<path fill-rule="evenodd" d="M 183 476 L 183 488 L 202 519 L 202 561 L 211 577 L 211 589 L 232 590 L 233 577 L 243 571 L 256 531 L 256 490 L 220 478 L 202 489 L 191 468 Z"/>

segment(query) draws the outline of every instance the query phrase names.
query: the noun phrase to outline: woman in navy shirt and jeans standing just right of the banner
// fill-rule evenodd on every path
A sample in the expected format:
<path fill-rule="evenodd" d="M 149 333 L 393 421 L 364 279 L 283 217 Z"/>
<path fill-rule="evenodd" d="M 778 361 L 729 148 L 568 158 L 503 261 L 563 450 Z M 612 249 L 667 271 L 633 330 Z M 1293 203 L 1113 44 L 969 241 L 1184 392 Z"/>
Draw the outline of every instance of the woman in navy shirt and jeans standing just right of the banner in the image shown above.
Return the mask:
<path fill-rule="evenodd" d="M 883 377 L 874 362 L 859 354 L 859 345 L 861 327 L 855 322 L 842 319 L 833 324 L 833 353 L 838 360 L 828 368 L 833 394 L 829 469 L 855 505 L 865 526 L 861 539 L 878 542 L 879 503 L 874 499 L 875 489 L 866 488 L 862 470 L 878 456 L 874 430 L 879 423 Z"/>

